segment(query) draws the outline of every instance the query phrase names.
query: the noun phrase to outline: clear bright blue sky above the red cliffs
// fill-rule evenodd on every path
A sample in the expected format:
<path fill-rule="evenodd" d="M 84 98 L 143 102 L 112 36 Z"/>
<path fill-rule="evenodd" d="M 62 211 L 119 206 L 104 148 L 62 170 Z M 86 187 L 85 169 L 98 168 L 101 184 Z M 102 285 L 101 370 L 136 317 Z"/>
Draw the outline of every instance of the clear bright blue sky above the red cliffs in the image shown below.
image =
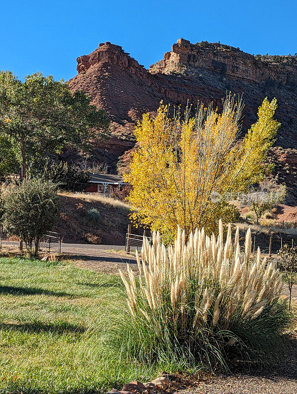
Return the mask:
<path fill-rule="evenodd" d="M 297 0 L 0 0 L 0 69 L 76 75 L 76 58 L 101 42 L 148 67 L 180 37 L 249 53 L 297 52 Z"/>

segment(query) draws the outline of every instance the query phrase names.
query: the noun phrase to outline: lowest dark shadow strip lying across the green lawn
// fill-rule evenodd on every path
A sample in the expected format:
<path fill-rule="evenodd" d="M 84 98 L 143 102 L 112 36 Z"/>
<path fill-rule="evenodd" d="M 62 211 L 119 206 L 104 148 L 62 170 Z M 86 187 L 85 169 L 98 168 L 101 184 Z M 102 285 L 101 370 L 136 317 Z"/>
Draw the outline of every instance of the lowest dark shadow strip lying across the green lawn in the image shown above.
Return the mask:
<path fill-rule="evenodd" d="M 19 332 L 50 332 L 54 334 L 63 334 L 65 332 L 71 332 L 74 334 L 82 334 L 86 331 L 85 327 L 77 326 L 75 324 L 67 323 L 67 322 L 59 322 L 59 323 L 0 323 L 0 330 L 5 331 L 19 331 Z"/>

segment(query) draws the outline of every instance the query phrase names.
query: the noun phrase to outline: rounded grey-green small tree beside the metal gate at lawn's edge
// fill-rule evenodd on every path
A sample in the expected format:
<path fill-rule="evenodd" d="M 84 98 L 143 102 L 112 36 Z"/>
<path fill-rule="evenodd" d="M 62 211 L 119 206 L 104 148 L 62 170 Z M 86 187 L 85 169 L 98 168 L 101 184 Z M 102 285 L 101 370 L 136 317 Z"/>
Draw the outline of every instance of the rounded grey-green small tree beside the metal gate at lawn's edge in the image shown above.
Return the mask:
<path fill-rule="evenodd" d="M 60 205 L 56 186 L 42 179 L 24 180 L 3 193 L 3 227 L 9 235 L 19 236 L 37 256 L 40 237 L 52 230 L 59 218 Z"/>

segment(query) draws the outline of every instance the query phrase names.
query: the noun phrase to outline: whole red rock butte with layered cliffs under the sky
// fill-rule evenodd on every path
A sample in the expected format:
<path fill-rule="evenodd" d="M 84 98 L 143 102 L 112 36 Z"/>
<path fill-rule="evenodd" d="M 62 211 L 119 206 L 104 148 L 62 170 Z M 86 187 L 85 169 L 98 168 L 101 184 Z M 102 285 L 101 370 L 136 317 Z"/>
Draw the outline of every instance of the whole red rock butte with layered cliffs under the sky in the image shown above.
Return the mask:
<path fill-rule="evenodd" d="M 106 163 L 109 172 L 121 172 L 126 167 L 135 145 L 136 122 L 144 112 L 154 112 L 160 100 L 182 107 L 187 101 L 196 106 L 200 100 L 220 108 L 228 92 L 242 95 L 245 102 L 243 132 L 256 121 L 262 100 L 266 96 L 277 98 L 276 118 L 282 126 L 275 146 L 285 150 L 274 149 L 272 155 L 281 154 L 284 160 L 285 154 L 296 169 L 296 56 L 254 56 L 221 43 L 191 44 L 181 38 L 163 60 L 147 70 L 122 47 L 106 42 L 77 58 L 77 71 L 69 81 L 70 89 L 88 93 L 111 119 L 111 138 L 94 146 L 92 152 L 93 160 Z"/>

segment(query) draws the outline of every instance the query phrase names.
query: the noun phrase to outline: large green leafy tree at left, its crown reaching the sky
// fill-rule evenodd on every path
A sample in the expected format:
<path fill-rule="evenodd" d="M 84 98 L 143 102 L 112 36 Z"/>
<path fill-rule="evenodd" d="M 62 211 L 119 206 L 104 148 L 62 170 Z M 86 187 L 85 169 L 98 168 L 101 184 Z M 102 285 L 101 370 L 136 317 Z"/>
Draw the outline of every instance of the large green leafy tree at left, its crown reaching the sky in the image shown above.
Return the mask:
<path fill-rule="evenodd" d="M 24 175 L 49 153 L 86 147 L 108 126 L 105 111 L 90 105 L 82 91 L 72 93 L 64 81 L 36 73 L 21 82 L 10 71 L 0 72 L 0 133 L 18 145 Z"/>

